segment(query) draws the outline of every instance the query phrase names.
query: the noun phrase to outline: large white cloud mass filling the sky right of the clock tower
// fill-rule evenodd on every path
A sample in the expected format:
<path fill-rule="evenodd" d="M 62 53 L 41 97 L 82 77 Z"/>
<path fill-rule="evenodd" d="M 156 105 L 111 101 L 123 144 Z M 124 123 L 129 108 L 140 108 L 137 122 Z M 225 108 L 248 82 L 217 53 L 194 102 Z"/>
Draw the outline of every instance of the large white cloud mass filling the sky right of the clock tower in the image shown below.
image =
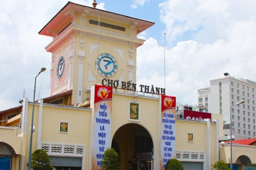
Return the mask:
<path fill-rule="evenodd" d="M 191 31 L 189 40 L 166 48 L 166 94 L 177 96 L 184 104 L 196 104 L 197 89 L 224 77 L 224 72 L 256 81 L 252 3 L 169 0 L 160 4 L 166 41 L 172 43 Z M 154 38 L 138 48 L 137 81 L 163 87 L 163 46 Z"/>

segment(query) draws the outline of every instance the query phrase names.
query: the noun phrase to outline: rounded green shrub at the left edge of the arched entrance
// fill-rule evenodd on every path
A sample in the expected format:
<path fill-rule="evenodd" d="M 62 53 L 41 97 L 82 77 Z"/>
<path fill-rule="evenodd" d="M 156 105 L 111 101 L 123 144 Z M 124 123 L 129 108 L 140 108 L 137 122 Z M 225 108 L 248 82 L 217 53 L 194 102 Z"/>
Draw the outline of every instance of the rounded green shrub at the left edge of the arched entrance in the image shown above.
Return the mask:
<path fill-rule="evenodd" d="M 107 170 L 119 170 L 118 154 L 114 148 L 105 150 L 101 167 Z"/>

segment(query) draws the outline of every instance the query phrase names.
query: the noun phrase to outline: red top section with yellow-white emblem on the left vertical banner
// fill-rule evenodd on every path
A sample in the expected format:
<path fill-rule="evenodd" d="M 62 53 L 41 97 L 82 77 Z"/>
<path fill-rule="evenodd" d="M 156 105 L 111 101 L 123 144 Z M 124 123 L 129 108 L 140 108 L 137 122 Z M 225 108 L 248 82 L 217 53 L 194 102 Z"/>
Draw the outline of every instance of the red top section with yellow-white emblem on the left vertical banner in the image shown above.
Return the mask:
<path fill-rule="evenodd" d="M 95 85 L 94 103 L 112 99 L 112 87 Z"/>

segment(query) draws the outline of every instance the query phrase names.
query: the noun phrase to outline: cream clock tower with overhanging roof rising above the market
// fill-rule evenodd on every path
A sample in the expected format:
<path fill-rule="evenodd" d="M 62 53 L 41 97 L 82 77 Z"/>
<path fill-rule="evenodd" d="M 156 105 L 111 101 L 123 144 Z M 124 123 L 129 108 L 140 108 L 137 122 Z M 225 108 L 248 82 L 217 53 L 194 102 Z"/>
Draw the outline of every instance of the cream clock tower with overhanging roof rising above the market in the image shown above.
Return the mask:
<path fill-rule="evenodd" d="M 136 83 L 137 34 L 154 23 L 68 2 L 39 34 L 53 37 L 50 96 L 72 90 L 72 105 L 102 79 Z"/>

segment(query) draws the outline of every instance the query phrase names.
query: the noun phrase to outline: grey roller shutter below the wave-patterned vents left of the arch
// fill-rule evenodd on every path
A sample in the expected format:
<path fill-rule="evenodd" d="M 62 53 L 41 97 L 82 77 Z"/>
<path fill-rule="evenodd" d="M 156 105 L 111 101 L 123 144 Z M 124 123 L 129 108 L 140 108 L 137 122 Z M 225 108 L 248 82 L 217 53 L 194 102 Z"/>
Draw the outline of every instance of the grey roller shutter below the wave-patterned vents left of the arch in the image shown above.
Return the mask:
<path fill-rule="evenodd" d="M 54 167 L 81 167 L 82 158 L 49 156 L 50 164 Z"/>

